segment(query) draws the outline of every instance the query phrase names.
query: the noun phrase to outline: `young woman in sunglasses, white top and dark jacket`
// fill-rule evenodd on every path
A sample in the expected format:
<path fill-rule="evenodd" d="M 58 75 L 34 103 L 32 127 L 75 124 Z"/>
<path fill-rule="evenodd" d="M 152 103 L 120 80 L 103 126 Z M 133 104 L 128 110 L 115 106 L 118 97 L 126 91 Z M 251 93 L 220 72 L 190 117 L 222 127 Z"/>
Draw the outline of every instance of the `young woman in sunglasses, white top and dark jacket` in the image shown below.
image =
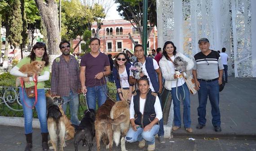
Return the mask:
<path fill-rule="evenodd" d="M 129 68 L 132 64 L 128 62 L 128 56 L 124 52 L 117 54 L 114 64 L 113 75 L 117 88 L 116 100 L 129 102 L 132 97 L 132 85 L 129 84 Z"/>

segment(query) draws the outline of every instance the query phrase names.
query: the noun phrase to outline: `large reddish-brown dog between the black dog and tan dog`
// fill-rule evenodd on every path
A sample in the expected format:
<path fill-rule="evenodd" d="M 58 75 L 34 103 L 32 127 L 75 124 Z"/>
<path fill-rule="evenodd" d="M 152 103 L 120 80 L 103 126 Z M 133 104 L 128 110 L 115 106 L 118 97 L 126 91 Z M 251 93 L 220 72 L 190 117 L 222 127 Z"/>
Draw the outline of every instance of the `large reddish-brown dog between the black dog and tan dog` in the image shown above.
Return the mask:
<path fill-rule="evenodd" d="M 97 143 L 97 151 L 100 151 L 101 139 L 106 145 L 106 149 L 109 148 L 109 150 L 112 151 L 113 130 L 110 122 L 113 120 L 110 118 L 110 110 L 114 106 L 114 104 L 114 101 L 107 99 L 106 102 L 97 110 L 95 120 L 95 137 Z"/>

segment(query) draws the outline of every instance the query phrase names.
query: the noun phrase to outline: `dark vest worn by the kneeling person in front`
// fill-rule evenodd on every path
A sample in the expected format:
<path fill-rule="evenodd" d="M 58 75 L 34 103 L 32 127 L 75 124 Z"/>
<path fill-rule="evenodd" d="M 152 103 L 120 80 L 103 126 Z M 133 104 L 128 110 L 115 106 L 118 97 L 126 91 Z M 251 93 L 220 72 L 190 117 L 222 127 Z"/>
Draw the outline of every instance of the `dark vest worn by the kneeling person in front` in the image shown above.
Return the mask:
<path fill-rule="evenodd" d="M 140 112 L 140 92 L 137 91 L 137 94 L 133 96 L 135 124 L 141 125 L 141 128 L 144 128 L 146 125 L 149 125 L 156 116 L 154 112 L 154 103 L 156 95 L 156 93 L 151 92 L 151 89 L 149 89 L 146 95 L 146 102 L 144 104 L 143 114 L 141 114 Z"/>

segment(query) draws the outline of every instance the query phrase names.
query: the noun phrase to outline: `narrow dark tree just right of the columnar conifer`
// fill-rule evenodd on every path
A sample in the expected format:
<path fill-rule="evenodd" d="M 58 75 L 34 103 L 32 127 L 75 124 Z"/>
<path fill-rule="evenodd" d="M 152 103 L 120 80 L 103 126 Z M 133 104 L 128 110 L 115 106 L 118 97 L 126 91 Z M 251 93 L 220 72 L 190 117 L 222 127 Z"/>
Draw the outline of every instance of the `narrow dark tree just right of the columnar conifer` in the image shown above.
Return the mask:
<path fill-rule="evenodd" d="M 22 50 L 28 42 L 25 0 L 21 0 L 21 13 L 22 13 L 22 22 L 23 22 L 23 24 L 22 24 L 21 57 L 23 58 Z"/>

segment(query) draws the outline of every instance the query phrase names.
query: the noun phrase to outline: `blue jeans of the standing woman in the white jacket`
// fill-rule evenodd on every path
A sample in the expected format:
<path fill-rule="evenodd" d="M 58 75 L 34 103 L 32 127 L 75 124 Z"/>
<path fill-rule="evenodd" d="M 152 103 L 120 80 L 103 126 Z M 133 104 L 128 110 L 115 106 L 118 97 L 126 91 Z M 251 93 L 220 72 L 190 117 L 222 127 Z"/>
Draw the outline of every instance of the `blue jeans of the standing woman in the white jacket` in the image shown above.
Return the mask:
<path fill-rule="evenodd" d="M 183 84 L 185 90 L 185 99 L 183 100 L 183 124 L 185 128 L 190 128 L 191 119 L 190 119 L 190 91 L 186 85 Z M 182 86 L 178 86 L 178 95 L 183 98 L 184 91 Z M 177 99 L 176 96 L 176 87 L 172 87 L 172 100 L 173 100 L 173 111 L 174 111 L 174 125 L 181 127 L 181 109 L 180 104 L 181 102 Z"/>

